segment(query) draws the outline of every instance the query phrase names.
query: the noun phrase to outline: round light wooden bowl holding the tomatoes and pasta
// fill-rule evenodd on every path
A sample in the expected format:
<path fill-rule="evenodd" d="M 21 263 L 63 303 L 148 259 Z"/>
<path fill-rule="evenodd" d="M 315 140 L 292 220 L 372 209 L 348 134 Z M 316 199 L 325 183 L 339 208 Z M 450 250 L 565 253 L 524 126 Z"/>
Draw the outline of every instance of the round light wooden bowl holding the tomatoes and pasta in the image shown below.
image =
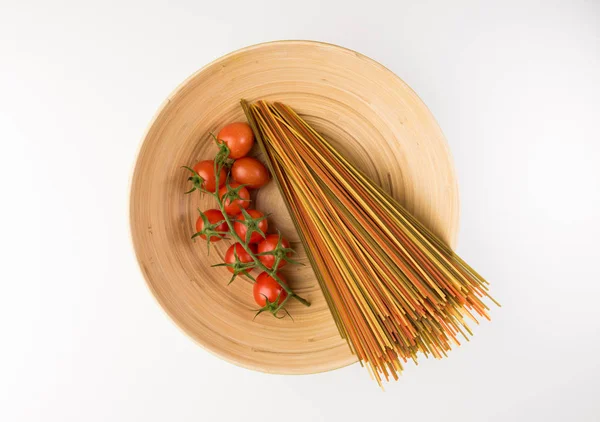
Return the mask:
<path fill-rule="evenodd" d="M 131 183 L 133 244 L 150 290 L 190 337 L 237 365 L 279 374 L 308 374 L 356 361 L 337 332 L 318 282 L 274 183 L 260 189 L 255 207 L 272 213 L 306 266 L 285 275 L 304 307 L 291 301 L 294 320 L 262 314 L 252 283 L 211 268 L 230 245 L 193 242 L 200 209 L 215 203 L 184 195 L 183 165 L 213 158 L 209 132 L 245 120 L 241 98 L 292 106 L 326 138 L 453 246 L 458 192 L 448 146 L 419 97 L 379 63 L 345 48 L 312 41 L 278 41 L 228 54 L 180 85 L 154 117 Z M 255 147 L 257 149 L 257 147 Z M 254 151 L 257 153 L 257 151 Z"/>

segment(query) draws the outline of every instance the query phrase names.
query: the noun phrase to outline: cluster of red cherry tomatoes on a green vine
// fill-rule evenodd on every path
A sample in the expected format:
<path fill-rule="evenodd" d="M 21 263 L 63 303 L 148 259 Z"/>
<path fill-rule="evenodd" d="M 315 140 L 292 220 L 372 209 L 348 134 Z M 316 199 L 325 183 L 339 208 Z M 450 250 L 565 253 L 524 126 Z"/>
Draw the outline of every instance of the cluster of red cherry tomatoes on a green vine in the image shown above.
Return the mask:
<path fill-rule="evenodd" d="M 261 306 L 258 313 L 270 311 L 277 316 L 291 293 L 278 270 L 293 262 L 290 259 L 293 251 L 280 234 L 267 233 L 267 216 L 251 208 L 251 190 L 268 183 L 269 173 L 259 160 L 247 156 L 254 145 L 254 134 L 247 123 L 225 126 L 216 141 L 221 152 L 215 160 L 200 161 L 191 169 L 186 167 L 193 173 L 188 179 L 193 184 L 189 192 L 211 193 L 219 202 L 219 209 L 199 210 L 193 237 L 205 239 L 209 244 L 221 241 L 226 235 L 233 237 L 236 242 L 227 249 L 225 262 L 216 266 L 227 267 L 233 274 L 230 282 L 237 275 L 253 279 L 254 300 Z M 262 270 L 256 279 L 250 275 L 252 269 Z"/>

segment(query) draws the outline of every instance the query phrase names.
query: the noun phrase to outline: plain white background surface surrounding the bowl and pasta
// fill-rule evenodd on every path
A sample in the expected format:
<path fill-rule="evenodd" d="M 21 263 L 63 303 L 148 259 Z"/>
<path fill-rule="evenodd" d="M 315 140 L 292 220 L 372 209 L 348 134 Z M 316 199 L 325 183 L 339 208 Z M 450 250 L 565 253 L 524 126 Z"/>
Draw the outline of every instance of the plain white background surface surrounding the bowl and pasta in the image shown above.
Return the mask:
<path fill-rule="evenodd" d="M 600 419 L 598 1 L 85 3 L 0 0 L 1 421 Z M 358 365 L 221 361 L 133 256 L 152 115 L 204 64 L 274 39 L 355 49 L 421 96 L 454 155 L 458 252 L 503 304 L 385 393 Z"/>

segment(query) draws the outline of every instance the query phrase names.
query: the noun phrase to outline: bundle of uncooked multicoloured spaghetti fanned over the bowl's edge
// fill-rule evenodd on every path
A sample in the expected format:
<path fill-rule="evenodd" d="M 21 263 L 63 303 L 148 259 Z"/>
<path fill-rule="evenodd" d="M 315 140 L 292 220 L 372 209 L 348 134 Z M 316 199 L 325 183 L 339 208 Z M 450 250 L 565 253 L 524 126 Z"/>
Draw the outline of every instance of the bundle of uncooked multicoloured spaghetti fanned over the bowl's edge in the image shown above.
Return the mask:
<path fill-rule="evenodd" d="M 242 106 L 340 334 L 380 385 L 489 319 L 487 282 L 291 108 Z"/>

